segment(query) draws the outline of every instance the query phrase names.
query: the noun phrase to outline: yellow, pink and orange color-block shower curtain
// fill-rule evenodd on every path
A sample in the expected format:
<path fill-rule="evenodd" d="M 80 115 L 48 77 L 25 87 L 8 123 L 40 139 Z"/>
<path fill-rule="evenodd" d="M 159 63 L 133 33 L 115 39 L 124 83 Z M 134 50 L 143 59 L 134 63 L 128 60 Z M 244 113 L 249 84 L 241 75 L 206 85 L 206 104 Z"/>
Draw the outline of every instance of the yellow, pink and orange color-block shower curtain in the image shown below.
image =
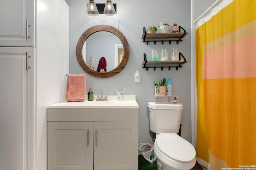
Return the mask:
<path fill-rule="evenodd" d="M 196 29 L 197 160 L 256 170 L 256 0 L 216 10 Z"/>

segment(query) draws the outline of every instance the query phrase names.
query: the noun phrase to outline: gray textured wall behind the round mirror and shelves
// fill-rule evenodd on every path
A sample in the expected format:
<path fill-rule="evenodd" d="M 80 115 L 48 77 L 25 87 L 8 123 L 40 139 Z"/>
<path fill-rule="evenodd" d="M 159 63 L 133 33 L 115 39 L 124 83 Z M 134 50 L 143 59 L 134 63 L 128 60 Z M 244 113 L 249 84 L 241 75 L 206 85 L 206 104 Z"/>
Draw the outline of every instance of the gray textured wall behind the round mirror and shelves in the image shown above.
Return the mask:
<path fill-rule="evenodd" d="M 117 14 L 105 16 L 100 14 L 91 17 L 86 14 L 87 0 L 66 0 L 70 6 L 70 74 L 84 74 L 76 60 L 76 44 L 82 33 L 100 24 L 119 25 L 119 30 L 124 34 L 130 46 L 129 61 L 119 74 L 110 78 L 95 78 L 86 73 L 86 86 L 92 86 L 94 94 L 98 94 L 98 89 L 103 89 L 103 94 L 116 95 L 115 88 L 124 89 L 127 87 L 126 95 L 136 95 L 139 108 L 139 143 L 152 143 L 149 130 L 149 117 L 147 103 L 154 100 L 154 81 L 162 78 L 172 78 L 172 94 L 179 96 L 180 103 L 184 105 L 182 111 L 182 137 L 191 142 L 191 104 L 190 104 L 190 62 L 182 68 L 168 70 L 156 68 L 146 71 L 142 68 L 143 53 L 150 58 L 151 49 L 160 51 L 166 48 L 169 57 L 172 48 L 178 48 L 184 57 L 191 59 L 191 29 L 190 29 L 190 1 L 188 0 L 113 0 L 117 3 Z M 105 0 L 95 2 L 104 3 Z M 142 42 L 143 27 L 157 25 L 164 20 L 170 25 L 178 23 L 187 32 L 182 42 L 172 43 L 146 43 Z M 171 27 L 169 28 L 171 29 Z M 94 65 L 95 67 L 95 65 Z M 139 70 L 141 82 L 134 83 L 134 73 Z M 87 89 L 88 90 L 88 89 Z M 104 113 L 102 113 L 104 114 Z"/>

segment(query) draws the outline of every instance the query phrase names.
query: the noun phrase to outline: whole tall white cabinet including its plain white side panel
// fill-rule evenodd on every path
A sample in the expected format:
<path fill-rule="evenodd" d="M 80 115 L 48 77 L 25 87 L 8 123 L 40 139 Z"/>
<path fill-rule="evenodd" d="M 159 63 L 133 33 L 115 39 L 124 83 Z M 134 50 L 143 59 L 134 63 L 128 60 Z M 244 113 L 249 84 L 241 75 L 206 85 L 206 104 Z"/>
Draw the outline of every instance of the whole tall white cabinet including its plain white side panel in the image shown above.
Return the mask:
<path fill-rule="evenodd" d="M 1 170 L 47 170 L 46 107 L 63 101 L 68 61 L 65 0 L 0 2 Z"/>

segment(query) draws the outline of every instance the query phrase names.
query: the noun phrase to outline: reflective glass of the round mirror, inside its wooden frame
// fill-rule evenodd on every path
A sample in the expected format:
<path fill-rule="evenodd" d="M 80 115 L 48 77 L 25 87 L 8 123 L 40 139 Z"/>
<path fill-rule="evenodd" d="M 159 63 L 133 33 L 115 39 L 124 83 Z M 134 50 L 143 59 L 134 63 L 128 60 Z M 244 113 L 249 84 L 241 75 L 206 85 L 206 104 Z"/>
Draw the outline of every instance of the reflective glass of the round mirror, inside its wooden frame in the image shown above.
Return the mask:
<path fill-rule="evenodd" d="M 86 39 L 82 53 L 89 68 L 97 72 L 108 72 L 121 63 L 124 47 L 113 33 L 98 31 Z"/>

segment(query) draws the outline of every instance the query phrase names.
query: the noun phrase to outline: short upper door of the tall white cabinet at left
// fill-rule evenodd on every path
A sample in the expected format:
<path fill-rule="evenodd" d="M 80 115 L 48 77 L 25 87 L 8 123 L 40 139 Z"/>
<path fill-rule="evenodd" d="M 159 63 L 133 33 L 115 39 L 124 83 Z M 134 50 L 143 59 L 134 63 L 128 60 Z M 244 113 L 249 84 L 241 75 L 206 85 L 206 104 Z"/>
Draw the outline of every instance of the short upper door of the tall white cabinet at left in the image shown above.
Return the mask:
<path fill-rule="evenodd" d="M 1 0 L 0 46 L 35 47 L 34 20 L 35 0 Z"/>

